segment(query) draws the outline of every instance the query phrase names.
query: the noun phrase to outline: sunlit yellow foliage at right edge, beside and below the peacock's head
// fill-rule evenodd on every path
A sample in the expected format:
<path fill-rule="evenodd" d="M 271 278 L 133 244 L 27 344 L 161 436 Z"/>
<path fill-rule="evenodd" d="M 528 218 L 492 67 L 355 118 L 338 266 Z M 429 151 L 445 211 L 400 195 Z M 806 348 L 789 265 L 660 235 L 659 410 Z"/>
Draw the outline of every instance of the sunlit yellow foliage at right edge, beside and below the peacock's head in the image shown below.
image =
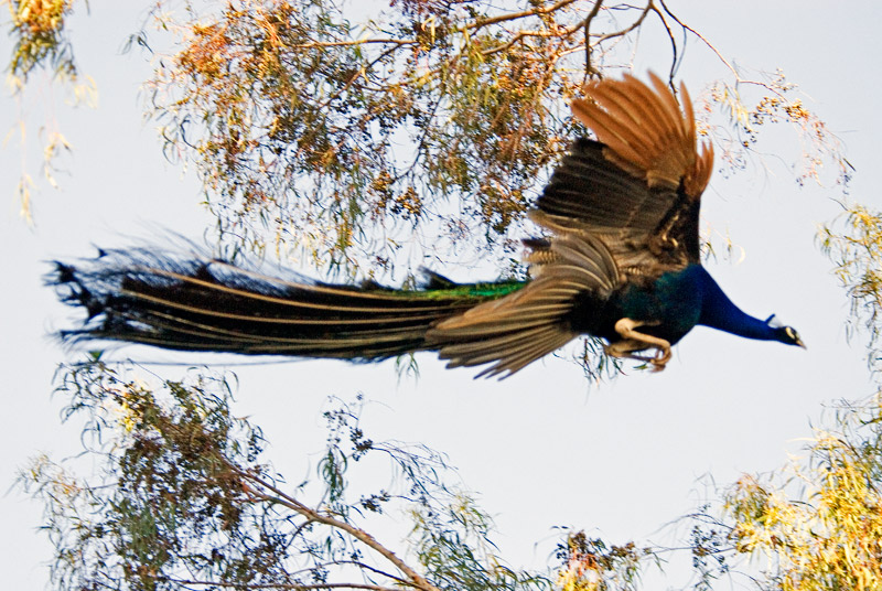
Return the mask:
<path fill-rule="evenodd" d="M 878 378 L 882 216 L 857 204 L 846 211 L 822 228 L 821 247 L 851 300 L 852 332 L 869 336 Z M 815 430 L 806 458 L 733 484 L 722 520 L 701 516 L 717 527 L 714 551 L 764 560 L 761 589 L 882 588 L 882 394 L 840 402 L 830 422 Z"/>

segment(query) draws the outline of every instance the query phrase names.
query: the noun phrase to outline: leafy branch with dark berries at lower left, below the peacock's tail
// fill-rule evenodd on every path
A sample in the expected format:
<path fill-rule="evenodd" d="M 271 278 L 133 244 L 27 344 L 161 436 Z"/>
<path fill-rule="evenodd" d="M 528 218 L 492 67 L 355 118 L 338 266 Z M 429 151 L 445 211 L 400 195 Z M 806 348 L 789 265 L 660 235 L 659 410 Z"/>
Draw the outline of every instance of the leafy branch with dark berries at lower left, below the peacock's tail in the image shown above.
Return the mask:
<path fill-rule="evenodd" d="M 449 490 L 443 458 L 372 441 L 357 407 L 325 415 L 319 481 L 287 484 L 260 463 L 260 431 L 230 413 L 230 386 L 196 375 L 153 388 L 100 361 L 63 368 L 66 418 L 85 417 L 80 480 L 40 458 L 21 474 L 46 507 L 58 589 L 470 589 L 546 588 L 493 554 L 490 518 Z M 385 464 L 400 491 L 348 501 L 354 463 Z M 306 498 L 311 498 L 308 502 Z M 416 563 L 369 535 L 372 515 L 412 522 Z"/>

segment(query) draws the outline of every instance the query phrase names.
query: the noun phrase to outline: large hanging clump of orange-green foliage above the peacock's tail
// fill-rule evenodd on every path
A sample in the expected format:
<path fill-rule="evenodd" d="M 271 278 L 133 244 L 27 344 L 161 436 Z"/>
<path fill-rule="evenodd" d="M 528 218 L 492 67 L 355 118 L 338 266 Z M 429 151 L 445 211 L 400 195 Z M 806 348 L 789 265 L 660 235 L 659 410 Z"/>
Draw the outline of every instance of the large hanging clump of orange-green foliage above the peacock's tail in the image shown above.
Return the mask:
<path fill-rule="evenodd" d="M 163 14 L 181 33 L 149 84 L 152 116 L 166 153 L 196 162 L 234 248 L 265 247 L 268 228 L 332 268 L 388 269 L 408 246 L 435 255 L 476 237 L 512 252 L 509 228 L 573 137 L 568 99 L 648 14 L 669 19 L 653 2 L 517 4 L 402 1 L 359 21 L 330 0 Z"/>

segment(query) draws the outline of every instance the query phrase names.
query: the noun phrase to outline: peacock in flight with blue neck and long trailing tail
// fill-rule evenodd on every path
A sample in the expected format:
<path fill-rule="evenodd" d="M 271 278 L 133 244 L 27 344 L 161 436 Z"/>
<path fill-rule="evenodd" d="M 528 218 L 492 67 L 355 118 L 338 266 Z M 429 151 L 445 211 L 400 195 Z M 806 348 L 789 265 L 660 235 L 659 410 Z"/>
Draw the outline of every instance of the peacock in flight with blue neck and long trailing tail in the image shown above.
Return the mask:
<path fill-rule="evenodd" d="M 614 357 L 664 369 L 700 324 L 805 346 L 790 326 L 747 315 L 701 266 L 698 219 L 713 165 L 692 107 L 657 76 L 585 85 L 579 139 L 536 201 L 548 230 L 524 240 L 531 279 L 454 283 L 428 272 L 418 290 L 281 279 L 224 261 L 146 249 L 57 264 L 50 280 L 88 313 L 68 341 L 115 340 L 247 355 L 379 361 L 437 351 L 448 367 L 507 377 L 580 335 Z"/>

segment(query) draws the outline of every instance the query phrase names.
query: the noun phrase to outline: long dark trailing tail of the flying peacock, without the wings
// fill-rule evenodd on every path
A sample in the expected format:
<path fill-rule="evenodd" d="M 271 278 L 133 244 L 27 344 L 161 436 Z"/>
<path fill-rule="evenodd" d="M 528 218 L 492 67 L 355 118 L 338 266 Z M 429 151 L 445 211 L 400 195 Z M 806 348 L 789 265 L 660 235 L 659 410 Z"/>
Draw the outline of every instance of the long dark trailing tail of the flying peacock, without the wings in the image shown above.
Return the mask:
<path fill-rule="evenodd" d="M 82 327 L 62 333 L 66 341 L 354 361 L 437 348 L 426 340 L 434 323 L 523 287 L 429 279 L 421 290 L 327 284 L 140 249 L 57 264 L 49 282 L 88 313 Z"/>

